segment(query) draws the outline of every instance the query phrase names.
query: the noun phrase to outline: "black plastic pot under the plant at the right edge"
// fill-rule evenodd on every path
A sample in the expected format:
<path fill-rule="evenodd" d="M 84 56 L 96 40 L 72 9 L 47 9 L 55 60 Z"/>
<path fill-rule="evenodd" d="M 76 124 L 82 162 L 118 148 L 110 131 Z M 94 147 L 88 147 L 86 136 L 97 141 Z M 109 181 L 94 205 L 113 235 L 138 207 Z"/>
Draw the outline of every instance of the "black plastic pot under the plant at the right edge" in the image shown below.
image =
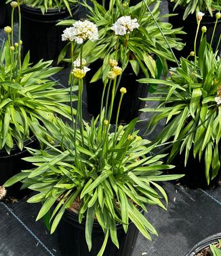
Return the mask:
<path fill-rule="evenodd" d="M 210 180 L 208 185 L 205 177 L 204 155 L 202 155 L 201 161 L 199 161 L 199 157 L 194 158 L 193 149 L 190 149 L 186 166 L 184 166 L 184 161 L 185 154 L 182 153 L 181 155 L 176 155 L 170 163 L 175 165 L 175 168 L 172 169 L 173 173 L 185 174 L 183 178 L 180 178 L 180 184 L 192 189 L 207 189 L 208 187 L 216 187 L 218 185 L 218 181 L 221 180 L 221 168 L 218 175 L 213 180 Z"/>

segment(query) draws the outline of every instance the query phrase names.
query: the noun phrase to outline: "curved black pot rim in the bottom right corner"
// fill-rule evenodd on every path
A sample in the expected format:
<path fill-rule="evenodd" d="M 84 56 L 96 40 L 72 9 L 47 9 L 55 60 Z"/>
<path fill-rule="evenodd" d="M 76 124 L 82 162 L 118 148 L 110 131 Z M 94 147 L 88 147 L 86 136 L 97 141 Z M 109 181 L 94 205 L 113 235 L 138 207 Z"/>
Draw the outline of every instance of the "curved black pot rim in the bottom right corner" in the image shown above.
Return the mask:
<path fill-rule="evenodd" d="M 198 253 L 201 253 L 204 249 L 206 249 L 209 244 L 214 244 L 220 239 L 221 233 L 209 236 L 208 238 L 205 238 L 204 240 L 196 244 L 185 256 L 197 256 Z"/>

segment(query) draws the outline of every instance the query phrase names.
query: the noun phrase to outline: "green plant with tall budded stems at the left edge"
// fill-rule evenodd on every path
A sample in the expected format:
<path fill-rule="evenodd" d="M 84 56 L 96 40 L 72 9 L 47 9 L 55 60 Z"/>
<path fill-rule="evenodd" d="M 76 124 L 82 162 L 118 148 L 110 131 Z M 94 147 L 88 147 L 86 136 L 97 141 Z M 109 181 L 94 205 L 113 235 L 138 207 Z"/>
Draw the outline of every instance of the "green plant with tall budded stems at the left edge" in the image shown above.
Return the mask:
<path fill-rule="evenodd" d="M 53 122 L 55 113 L 66 118 L 71 114 L 66 105 L 70 90 L 56 89 L 58 83 L 49 79 L 60 67 L 50 67 L 52 61 L 30 67 L 29 52 L 22 62 L 20 26 L 18 42 L 14 42 L 13 29 L 14 9 L 20 5 L 16 1 L 11 5 L 12 27 L 5 27 L 7 41 L 0 48 L 0 150 L 7 153 L 16 144 L 22 150 L 24 140 L 37 135 L 46 119 Z"/>

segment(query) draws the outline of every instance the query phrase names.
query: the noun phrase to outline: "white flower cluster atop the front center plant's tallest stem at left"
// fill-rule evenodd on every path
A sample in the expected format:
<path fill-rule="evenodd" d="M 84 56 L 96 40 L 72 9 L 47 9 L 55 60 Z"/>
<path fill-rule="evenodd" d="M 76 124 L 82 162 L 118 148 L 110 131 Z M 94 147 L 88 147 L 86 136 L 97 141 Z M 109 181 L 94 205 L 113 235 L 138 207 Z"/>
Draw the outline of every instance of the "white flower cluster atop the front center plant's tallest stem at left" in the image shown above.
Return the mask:
<path fill-rule="evenodd" d="M 89 20 L 78 20 L 73 23 L 73 27 L 64 29 L 62 34 L 62 41 L 75 41 L 77 44 L 82 44 L 85 40 L 92 42 L 98 39 L 98 28 Z"/>

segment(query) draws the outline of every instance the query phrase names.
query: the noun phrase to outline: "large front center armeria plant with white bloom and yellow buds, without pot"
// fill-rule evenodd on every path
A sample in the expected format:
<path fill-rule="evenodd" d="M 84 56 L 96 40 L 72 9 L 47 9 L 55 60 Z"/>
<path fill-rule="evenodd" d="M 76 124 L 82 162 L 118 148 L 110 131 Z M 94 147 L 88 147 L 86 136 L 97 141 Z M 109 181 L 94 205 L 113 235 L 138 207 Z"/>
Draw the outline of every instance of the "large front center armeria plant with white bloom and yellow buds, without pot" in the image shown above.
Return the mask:
<path fill-rule="evenodd" d="M 158 205 L 165 209 L 167 195 L 157 181 L 172 180 L 180 176 L 161 175 L 163 170 L 172 168 L 172 165 L 163 165 L 161 159 L 165 155 L 151 153 L 157 144 L 149 146 L 148 140 L 138 136 L 138 131 L 134 129 L 136 119 L 125 127 L 118 126 L 117 120 L 121 101 L 126 93 L 125 88 L 120 89 L 121 99 L 118 103 L 116 125 L 111 131 L 115 93 L 124 68 L 119 67 L 115 59 L 108 61 L 109 70 L 104 81 L 104 92 L 108 91 L 108 96 L 106 101 L 103 96 L 100 116 L 92 118 L 91 123 L 83 121 L 83 78 L 89 71 L 83 59 L 83 44 L 86 40 L 97 40 L 98 29 L 87 20 L 77 21 L 73 27 L 66 29 L 62 36 L 71 42 L 72 59 L 74 42 L 79 44 L 81 49 L 80 58 L 72 61 L 73 69 L 70 74 L 71 87 L 75 80 L 79 83 L 76 117 L 73 116 L 71 126 L 59 118 L 56 118 L 56 123 L 45 123 L 45 128 L 40 129 L 52 143 L 45 141 L 43 137 L 40 138 L 47 144 L 47 148 L 29 149 L 33 157 L 26 158 L 26 161 L 36 167 L 14 176 L 5 183 L 5 187 L 22 181 L 22 187 L 37 191 L 36 195 L 28 199 L 30 203 L 43 204 L 37 219 L 48 214 L 55 205 L 50 217 L 51 233 L 55 231 L 64 212 L 74 207 L 79 215 L 79 223 L 85 219 L 85 238 L 89 251 L 93 246 L 93 223 L 98 222 L 104 231 L 104 242 L 98 253 L 102 255 L 109 236 L 119 247 L 117 223 L 122 224 L 127 232 L 132 221 L 148 239 L 150 234 L 157 234 L 141 210 L 146 212 L 146 204 Z M 130 40 L 129 34 L 127 39 Z M 108 97 L 111 97 L 111 105 L 108 109 L 103 108 Z M 162 197 L 165 204 L 161 200 Z M 75 202 L 79 202 L 79 207 L 76 208 Z"/>

